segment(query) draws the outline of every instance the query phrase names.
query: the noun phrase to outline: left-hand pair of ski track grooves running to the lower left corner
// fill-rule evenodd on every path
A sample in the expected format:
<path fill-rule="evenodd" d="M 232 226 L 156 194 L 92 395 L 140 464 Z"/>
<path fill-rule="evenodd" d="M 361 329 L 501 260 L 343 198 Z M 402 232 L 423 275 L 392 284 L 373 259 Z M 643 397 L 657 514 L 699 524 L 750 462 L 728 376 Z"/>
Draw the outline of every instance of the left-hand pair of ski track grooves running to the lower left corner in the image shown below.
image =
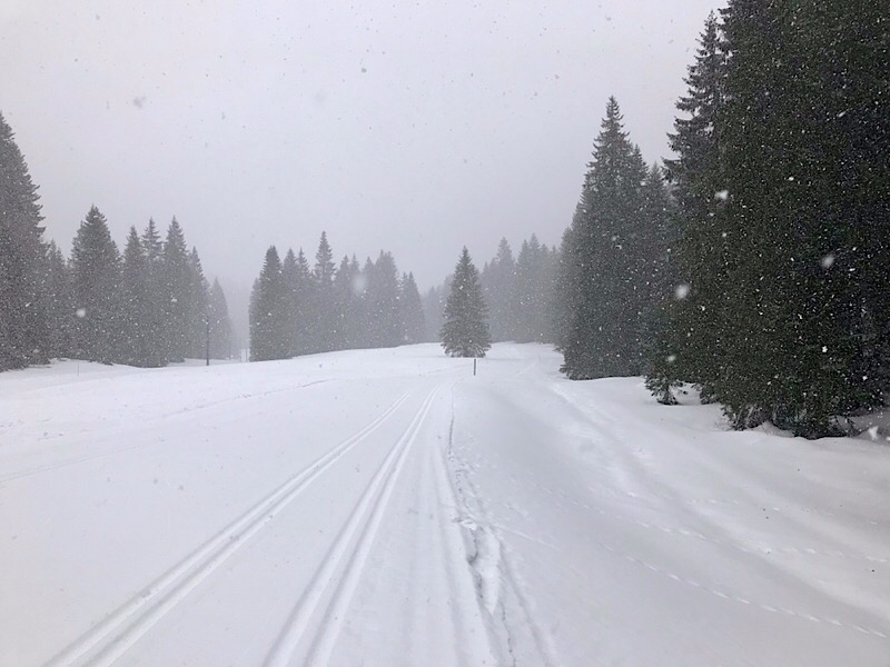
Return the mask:
<path fill-rule="evenodd" d="M 198 584 L 245 545 L 248 538 L 261 530 L 275 515 L 289 505 L 294 498 L 332 465 L 383 426 L 407 401 L 411 394 L 412 391 L 403 394 L 359 431 L 349 436 L 334 449 L 279 485 L 271 494 L 222 528 L 161 577 L 149 584 L 144 593 L 131 598 L 117 611 L 57 654 L 47 663 L 47 667 L 76 665 L 90 653 L 92 653 L 92 656 L 88 657 L 85 664 L 91 666 L 113 664 L 117 658 L 150 630 L 161 617 L 179 604 Z M 157 601 L 152 607 L 142 611 L 147 605 L 155 600 Z M 136 618 L 129 627 L 111 636 L 140 611 L 142 611 L 141 616 Z"/>

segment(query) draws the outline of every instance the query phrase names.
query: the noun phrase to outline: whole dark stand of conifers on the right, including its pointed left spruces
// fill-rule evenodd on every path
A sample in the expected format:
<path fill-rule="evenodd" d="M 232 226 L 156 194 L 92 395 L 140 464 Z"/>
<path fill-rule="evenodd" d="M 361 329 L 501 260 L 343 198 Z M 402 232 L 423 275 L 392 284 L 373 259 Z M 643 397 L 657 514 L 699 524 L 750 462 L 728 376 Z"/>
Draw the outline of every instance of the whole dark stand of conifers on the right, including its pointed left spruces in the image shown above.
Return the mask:
<path fill-rule="evenodd" d="M 807 437 L 883 405 L 887 20 L 730 2 L 701 34 L 663 175 L 609 101 L 561 252 L 570 378 L 644 372 L 664 404 L 691 382 L 735 428 Z"/>

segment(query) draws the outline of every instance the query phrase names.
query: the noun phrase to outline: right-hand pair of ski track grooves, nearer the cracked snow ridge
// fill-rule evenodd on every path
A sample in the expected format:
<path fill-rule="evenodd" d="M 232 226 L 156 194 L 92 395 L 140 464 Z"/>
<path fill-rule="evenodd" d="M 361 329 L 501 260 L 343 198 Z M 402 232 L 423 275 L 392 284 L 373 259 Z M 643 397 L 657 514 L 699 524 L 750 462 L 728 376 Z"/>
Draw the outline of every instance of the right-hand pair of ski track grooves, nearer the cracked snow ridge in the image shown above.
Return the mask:
<path fill-rule="evenodd" d="M 370 484 L 353 508 L 349 518 L 325 556 L 322 567 L 316 570 L 308 587 L 288 616 L 264 663 L 266 667 L 286 667 L 291 664 L 303 637 L 310 629 L 310 621 L 318 604 L 325 593 L 335 584 L 340 561 L 346 556 L 356 531 L 364 525 L 364 530 L 352 551 L 352 557 L 346 564 L 343 576 L 339 578 L 339 584 L 332 594 L 333 597 L 328 603 L 328 608 L 322 617 L 320 634 L 314 638 L 306 663 L 307 665 L 326 664 L 326 657 L 320 659 L 320 656 L 329 655 L 333 644 L 339 635 L 344 614 L 348 608 L 353 591 L 367 560 L 393 487 L 398 474 L 402 471 L 407 451 L 411 449 L 421 425 L 433 406 L 433 400 L 438 389 L 438 387 L 434 388 L 426 397 L 414 419 L 412 419 L 408 427 L 389 450 Z M 380 486 L 383 486 L 383 490 L 378 495 L 377 491 Z M 365 520 L 368 514 L 370 514 L 370 518 Z"/>

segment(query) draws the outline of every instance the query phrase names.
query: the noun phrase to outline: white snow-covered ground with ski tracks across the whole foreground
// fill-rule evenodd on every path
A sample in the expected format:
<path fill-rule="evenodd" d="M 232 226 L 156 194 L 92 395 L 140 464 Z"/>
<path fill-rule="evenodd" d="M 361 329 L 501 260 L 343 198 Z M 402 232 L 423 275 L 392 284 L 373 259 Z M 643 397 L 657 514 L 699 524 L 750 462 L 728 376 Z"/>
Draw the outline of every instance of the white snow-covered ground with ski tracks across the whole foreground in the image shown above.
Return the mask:
<path fill-rule="evenodd" d="M 0 375 L 0 665 L 890 660 L 890 447 L 542 346 Z"/>

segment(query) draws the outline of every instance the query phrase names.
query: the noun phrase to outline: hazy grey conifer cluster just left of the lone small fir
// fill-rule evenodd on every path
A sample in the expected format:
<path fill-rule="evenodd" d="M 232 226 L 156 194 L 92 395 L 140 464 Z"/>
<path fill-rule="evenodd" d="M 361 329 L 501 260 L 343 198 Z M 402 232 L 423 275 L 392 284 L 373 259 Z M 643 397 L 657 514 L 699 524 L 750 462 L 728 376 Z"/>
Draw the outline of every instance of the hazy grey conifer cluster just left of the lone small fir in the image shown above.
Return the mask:
<path fill-rule="evenodd" d="M 284 260 L 267 250 L 250 295 L 251 361 L 424 339 L 414 275 L 399 275 L 392 253 L 364 265 L 345 256 L 337 267 L 325 232 L 313 266 L 301 249 Z"/>

